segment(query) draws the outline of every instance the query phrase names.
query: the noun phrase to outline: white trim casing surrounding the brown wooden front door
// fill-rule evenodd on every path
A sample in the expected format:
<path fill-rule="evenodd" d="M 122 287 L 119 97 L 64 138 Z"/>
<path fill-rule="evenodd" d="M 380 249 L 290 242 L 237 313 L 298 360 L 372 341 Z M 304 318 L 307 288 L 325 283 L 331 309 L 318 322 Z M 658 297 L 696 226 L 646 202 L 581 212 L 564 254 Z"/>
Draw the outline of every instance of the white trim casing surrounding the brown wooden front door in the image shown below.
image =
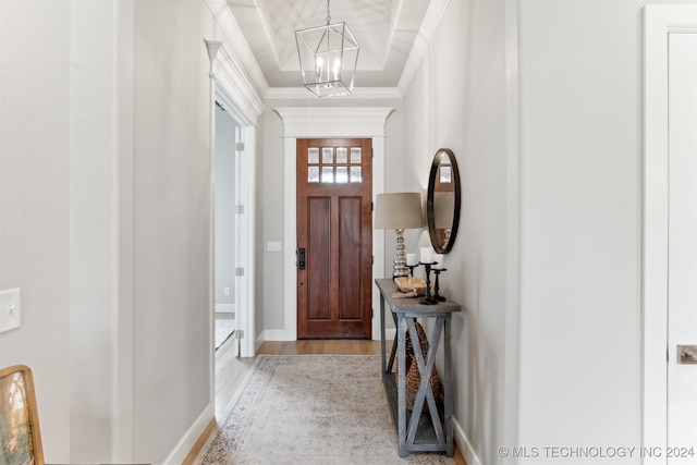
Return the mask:
<path fill-rule="evenodd" d="M 297 276 L 295 270 L 295 230 L 296 213 L 296 139 L 327 138 L 327 137 L 371 137 L 372 138 L 372 195 L 384 189 L 384 124 L 393 109 L 388 107 L 366 108 L 277 108 L 274 110 L 283 120 L 283 315 L 282 330 L 265 331 L 268 341 L 295 341 L 297 339 Z M 374 233 L 372 266 L 374 278 L 382 278 L 384 273 L 383 255 L 384 241 L 381 231 Z M 375 287 L 375 286 L 374 286 Z M 374 289 L 372 293 L 372 334 L 379 325 L 379 299 Z"/>

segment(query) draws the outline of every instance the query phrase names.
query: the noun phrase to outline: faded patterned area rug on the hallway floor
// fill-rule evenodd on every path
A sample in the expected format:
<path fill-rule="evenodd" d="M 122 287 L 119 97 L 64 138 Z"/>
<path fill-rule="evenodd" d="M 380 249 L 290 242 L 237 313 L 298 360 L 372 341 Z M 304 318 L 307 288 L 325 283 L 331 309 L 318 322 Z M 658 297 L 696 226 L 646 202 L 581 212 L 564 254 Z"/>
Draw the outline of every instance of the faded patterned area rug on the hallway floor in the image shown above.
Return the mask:
<path fill-rule="evenodd" d="M 194 464 L 453 464 L 400 458 L 380 357 L 261 355 Z"/>

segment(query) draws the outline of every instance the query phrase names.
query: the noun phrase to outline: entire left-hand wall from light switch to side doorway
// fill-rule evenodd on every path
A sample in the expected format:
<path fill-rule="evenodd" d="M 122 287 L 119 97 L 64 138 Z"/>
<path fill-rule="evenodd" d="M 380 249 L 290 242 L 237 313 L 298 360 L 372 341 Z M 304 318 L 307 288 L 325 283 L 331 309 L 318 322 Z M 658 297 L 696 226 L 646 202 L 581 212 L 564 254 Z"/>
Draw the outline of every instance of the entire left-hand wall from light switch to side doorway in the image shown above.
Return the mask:
<path fill-rule="evenodd" d="M 212 402 L 204 38 L 204 1 L 0 1 L 0 366 L 49 462 L 162 463 Z"/>

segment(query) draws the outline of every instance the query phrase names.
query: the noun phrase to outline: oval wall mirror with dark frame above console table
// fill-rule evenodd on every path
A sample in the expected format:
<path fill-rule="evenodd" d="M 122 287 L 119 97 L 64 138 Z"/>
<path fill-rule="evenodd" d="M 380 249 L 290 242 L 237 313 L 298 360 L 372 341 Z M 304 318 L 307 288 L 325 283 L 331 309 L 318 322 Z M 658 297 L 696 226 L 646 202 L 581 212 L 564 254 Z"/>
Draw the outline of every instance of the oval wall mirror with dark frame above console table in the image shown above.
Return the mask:
<path fill-rule="evenodd" d="M 448 254 L 453 248 L 460 223 L 460 171 L 449 148 L 441 148 L 433 156 L 428 176 L 426 217 L 433 249 L 438 254 Z"/>

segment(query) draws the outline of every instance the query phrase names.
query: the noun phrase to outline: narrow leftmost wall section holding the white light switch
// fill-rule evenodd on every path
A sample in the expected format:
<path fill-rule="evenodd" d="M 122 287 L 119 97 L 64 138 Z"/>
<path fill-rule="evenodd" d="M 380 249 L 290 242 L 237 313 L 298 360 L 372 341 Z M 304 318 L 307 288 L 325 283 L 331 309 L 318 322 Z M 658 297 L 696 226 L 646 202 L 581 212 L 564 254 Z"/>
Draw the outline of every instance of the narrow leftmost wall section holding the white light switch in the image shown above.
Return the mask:
<path fill-rule="evenodd" d="M 0 366 L 28 365 L 47 460 L 70 453 L 71 5 L 0 2 L 0 290 L 22 327 Z M 50 356 L 47 356 L 50 355 Z"/>

